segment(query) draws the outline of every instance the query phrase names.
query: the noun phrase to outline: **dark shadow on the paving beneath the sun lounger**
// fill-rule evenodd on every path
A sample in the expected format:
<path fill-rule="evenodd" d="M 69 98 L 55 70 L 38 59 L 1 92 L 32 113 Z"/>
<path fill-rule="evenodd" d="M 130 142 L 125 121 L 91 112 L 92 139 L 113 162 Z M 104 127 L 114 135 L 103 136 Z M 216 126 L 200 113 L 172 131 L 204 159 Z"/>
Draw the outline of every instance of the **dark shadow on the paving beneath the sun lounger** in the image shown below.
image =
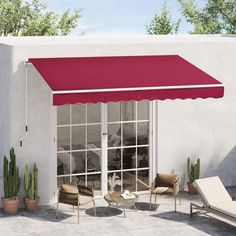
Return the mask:
<path fill-rule="evenodd" d="M 152 217 L 184 223 L 209 235 L 236 235 L 236 227 L 205 214 L 191 217 L 188 213 L 173 211 L 154 214 Z"/>

